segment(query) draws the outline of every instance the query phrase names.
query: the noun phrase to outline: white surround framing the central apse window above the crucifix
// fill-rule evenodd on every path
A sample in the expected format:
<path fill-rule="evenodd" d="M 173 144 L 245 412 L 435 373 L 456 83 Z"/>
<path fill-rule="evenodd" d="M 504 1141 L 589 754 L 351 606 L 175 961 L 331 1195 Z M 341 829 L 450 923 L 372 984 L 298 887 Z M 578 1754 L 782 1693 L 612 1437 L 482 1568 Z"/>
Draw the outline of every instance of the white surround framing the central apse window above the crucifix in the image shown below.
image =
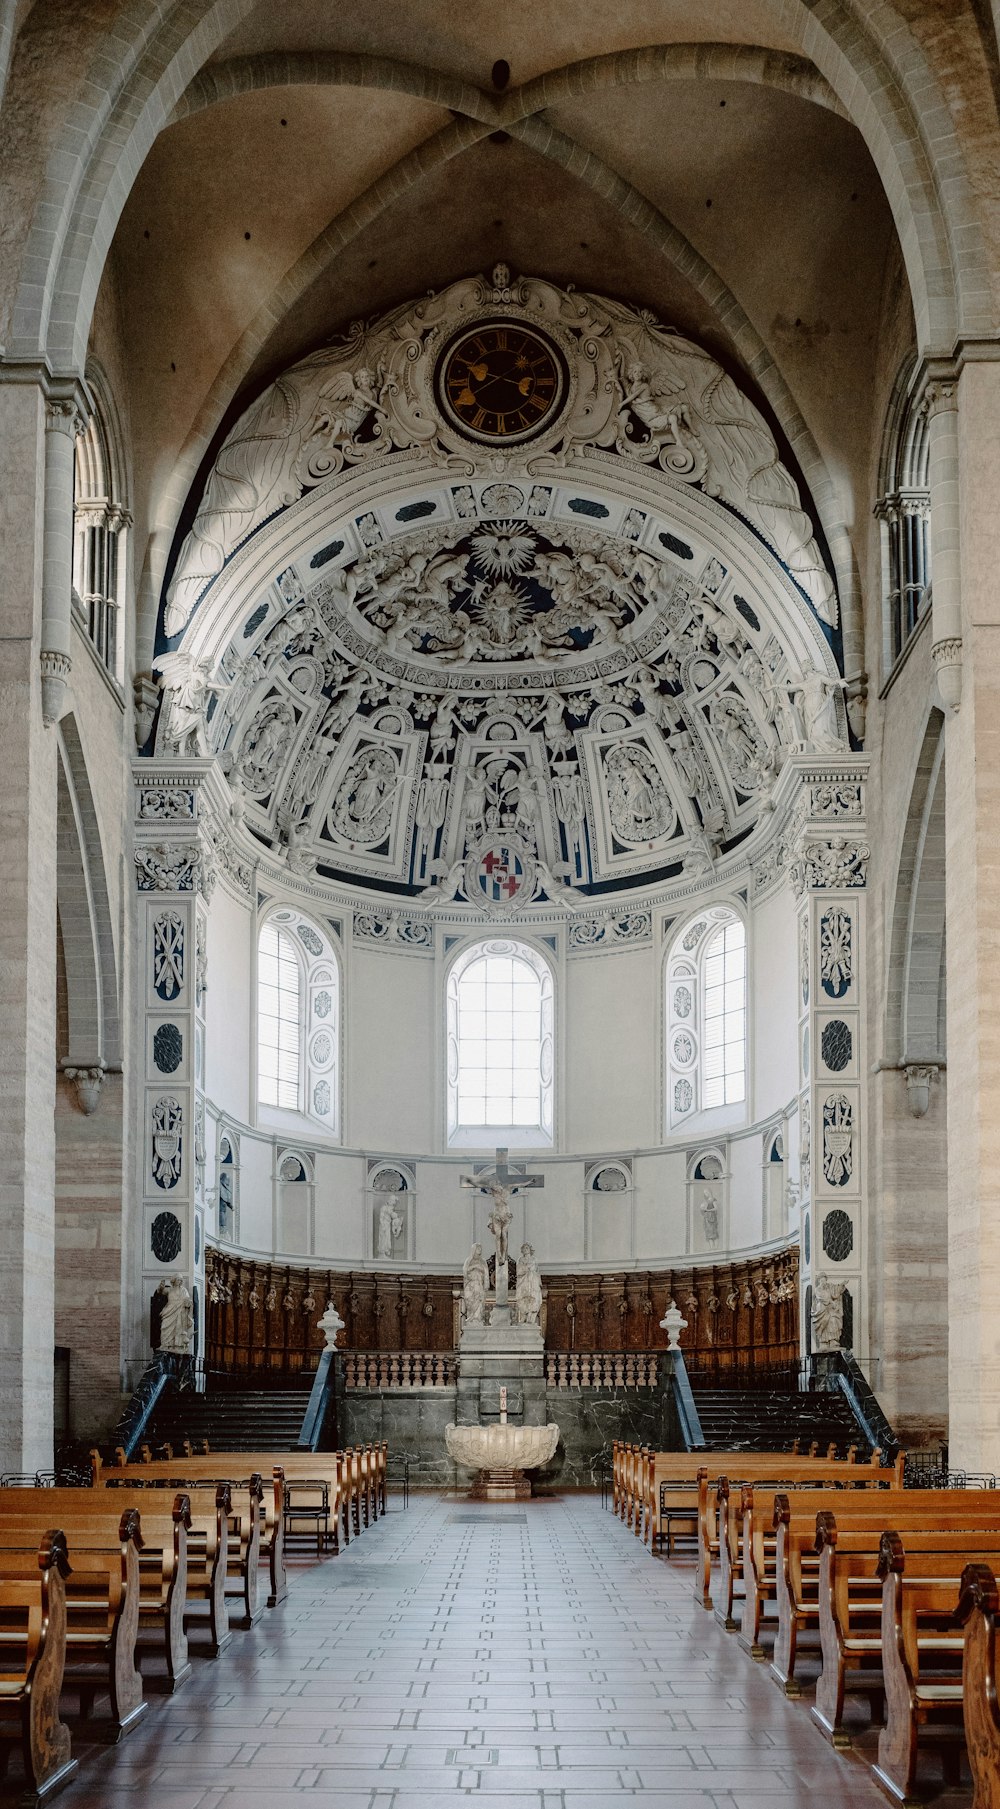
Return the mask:
<path fill-rule="evenodd" d="M 459 1122 L 459 990 L 477 961 L 488 955 L 523 959 L 541 984 L 539 997 L 539 1118 L 532 1125 Z M 458 950 L 445 971 L 445 1147 L 447 1149 L 555 1149 L 557 997 L 553 962 L 526 937 L 479 935 Z"/>

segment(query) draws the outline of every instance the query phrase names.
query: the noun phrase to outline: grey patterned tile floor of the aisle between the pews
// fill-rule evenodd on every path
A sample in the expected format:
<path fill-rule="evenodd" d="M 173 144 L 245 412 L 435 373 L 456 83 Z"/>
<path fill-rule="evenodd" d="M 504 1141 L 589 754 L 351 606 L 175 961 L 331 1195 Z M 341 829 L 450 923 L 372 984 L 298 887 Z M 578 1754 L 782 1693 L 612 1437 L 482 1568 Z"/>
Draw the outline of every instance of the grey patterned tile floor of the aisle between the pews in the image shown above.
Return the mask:
<path fill-rule="evenodd" d="M 882 1809 L 593 1496 L 410 1498 L 118 1749 L 67 1809 Z"/>

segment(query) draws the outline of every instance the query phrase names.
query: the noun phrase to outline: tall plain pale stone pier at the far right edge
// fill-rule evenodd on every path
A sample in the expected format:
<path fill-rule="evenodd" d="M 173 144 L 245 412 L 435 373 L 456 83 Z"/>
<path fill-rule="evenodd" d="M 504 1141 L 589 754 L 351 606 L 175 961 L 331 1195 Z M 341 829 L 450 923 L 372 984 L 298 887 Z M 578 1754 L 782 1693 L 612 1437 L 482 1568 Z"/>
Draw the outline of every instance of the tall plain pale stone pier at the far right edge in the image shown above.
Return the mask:
<path fill-rule="evenodd" d="M 998 1473 L 1000 364 L 966 364 L 957 405 L 964 682 L 946 729 L 949 1458 Z M 937 514 L 931 537 L 937 640 Z"/>

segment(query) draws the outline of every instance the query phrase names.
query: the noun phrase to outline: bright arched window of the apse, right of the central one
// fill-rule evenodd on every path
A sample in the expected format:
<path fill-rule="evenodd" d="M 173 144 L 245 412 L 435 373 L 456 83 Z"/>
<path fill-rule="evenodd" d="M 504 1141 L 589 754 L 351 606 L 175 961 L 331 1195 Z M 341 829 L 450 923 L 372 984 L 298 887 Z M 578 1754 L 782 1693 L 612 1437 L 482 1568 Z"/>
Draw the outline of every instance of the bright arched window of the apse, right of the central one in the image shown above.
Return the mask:
<path fill-rule="evenodd" d="M 667 1125 L 747 1098 L 747 930 L 729 904 L 685 924 L 667 957 Z"/>

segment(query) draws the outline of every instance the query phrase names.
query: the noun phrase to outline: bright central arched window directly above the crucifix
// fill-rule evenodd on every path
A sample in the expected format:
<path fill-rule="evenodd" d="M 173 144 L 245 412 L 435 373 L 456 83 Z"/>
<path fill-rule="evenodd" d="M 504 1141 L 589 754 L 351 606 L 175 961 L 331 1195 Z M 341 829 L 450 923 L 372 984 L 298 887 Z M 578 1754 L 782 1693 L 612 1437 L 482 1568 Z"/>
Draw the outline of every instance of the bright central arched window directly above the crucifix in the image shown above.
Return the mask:
<path fill-rule="evenodd" d="M 448 1143 L 552 1143 L 553 988 L 526 942 L 465 950 L 448 973 Z"/>

